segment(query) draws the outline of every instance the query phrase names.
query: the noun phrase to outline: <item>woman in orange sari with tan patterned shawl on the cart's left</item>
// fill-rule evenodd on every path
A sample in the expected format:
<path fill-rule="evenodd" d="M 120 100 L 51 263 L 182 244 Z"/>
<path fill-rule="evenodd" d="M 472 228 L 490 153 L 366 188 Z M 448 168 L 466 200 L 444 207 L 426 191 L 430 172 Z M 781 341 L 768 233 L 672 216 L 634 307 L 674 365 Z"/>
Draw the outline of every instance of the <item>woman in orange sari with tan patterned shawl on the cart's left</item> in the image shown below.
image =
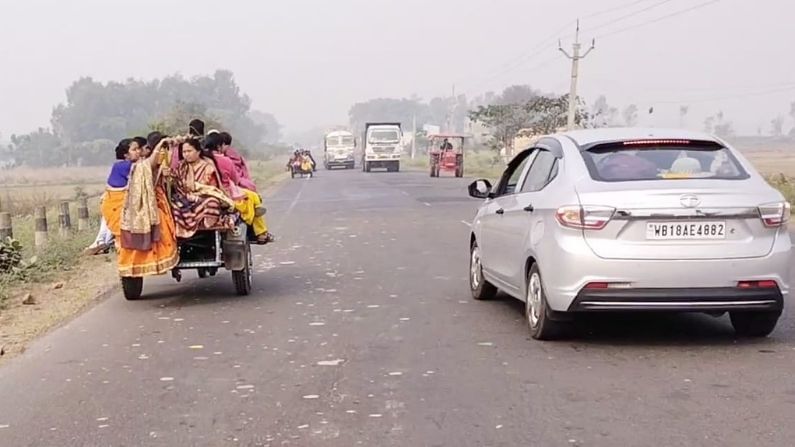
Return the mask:
<path fill-rule="evenodd" d="M 102 216 L 116 238 L 120 276 L 162 275 L 179 262 L 174 220 L 165 192 L 165 140 L 144 160 L 138 160 L 139 143 L 131 140 L 128 144 L 132 162 L 129 181 L 116 187 L 120 183 L 115 183 L 111 173 L 102 200 Z M 124 173 L 119 174 L 123 177 Z"/>

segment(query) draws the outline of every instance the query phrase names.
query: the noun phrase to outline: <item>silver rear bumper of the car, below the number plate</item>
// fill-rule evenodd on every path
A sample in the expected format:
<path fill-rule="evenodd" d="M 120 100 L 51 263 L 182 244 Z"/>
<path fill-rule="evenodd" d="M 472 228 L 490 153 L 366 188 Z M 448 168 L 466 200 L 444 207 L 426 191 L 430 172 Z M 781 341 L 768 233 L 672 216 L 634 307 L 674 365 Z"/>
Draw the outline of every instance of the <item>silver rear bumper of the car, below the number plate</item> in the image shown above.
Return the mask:
<path fill-rule="evenodd" d="M 615 304 L 612 307 L 619 310 L 673 310 L 677 306 L 676 301 L 690 301 L 690 306 L 680 306 L 688 309 L 714 310 L 716 305 L 710 303 L 714 300 L 742 306 L 744 301 L 748 301 L 747 295 L 742 294 L 757 290 L 738 292 L 737 283 L 740 281 L 773 280 L 778 285 L 781 302 L 786 302 L 790 295 L 793 251 L 789 234 L 784 231 L 778 235 L 767 256 L 702 260 L 604 259 L 591 251 L 581 234 L 559 231 L 554 234 L 554 237 L 545 238 L 540 247 L 542 252 L 537 257 L 547 302 L 554 311 L 577 309 L 575 302 L 579 305 L 583 296 L 590 296 L 588 301 L 594 302 L 588 305 L 588 310 L 608 310 L 611 307 L 608 304 Z M 551 259 L 553 263 L 544 259 Z M 609 283 L 617 287 L 587 290 L 585 287 L 589 283 Z M 673 298 L 665 301 L 660 298 L 668 295 Z M 622 300 L 635 305 L 621 304 Z M 671 301 L 674 304 L 662 304 Z M 721 309 L 728 307 L 725 305 Z"/>

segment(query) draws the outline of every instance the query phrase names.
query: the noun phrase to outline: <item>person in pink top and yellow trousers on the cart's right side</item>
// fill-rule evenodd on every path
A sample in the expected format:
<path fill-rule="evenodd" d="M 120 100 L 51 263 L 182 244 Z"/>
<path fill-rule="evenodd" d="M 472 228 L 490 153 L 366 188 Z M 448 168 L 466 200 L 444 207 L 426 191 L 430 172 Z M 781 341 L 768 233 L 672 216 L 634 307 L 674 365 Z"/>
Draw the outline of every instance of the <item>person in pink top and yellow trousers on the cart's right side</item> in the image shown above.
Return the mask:
<path fill-rule="evenodd" d="M 240 218 L 246 225 L 252 227 L 257 243 L 267 244 L 275 238 L 268 232 L 265 222 L 264 208 L 259 194 L 242 187 L 240 177 L 235 169 L 234 162 L 222 153 L 224 137 L 214 133 L 204 139 L 204 148 L 208 155 L 215 160 L 218 173 L 221 177 L 221 188 L 235 201 L 235 209 L 240 213 Z"/>

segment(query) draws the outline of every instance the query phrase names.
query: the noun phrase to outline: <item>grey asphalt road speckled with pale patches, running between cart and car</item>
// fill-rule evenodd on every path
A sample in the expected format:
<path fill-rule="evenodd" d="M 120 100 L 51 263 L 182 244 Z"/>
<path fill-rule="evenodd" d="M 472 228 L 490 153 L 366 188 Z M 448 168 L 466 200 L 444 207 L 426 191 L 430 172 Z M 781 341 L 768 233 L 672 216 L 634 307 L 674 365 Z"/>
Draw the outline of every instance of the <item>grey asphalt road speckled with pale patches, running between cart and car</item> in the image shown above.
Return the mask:
<path fill-rule="evenodd" d="M 795 324 L 588 318 L 528 339 L 471 300 L 466 181 L 321 171 L 268 200 L 255 292 L 113 296 L 0 369 L 10 446 L 793 445 Z"/>

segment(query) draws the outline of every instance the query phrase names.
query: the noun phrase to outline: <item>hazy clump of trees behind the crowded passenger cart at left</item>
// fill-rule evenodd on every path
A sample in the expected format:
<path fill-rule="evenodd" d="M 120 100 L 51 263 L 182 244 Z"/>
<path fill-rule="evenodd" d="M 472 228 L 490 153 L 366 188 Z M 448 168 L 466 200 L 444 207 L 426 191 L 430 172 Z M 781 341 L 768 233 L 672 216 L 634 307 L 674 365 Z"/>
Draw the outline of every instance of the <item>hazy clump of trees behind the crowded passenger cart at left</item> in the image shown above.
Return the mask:
<path fill-rule="evenodd" d="M 66 102 L 53 109 L 50 128 L 12 135 L 0 148 L 3 165 L 77 166 L 106 164 L 119 139 L 152 130 L 184 133 L 191 118 L 229 131 L 250 156 L 279 151 L 280 125 L 266 112 L 251 110 L 230 71 L 185 79 L 101 83 L 81 78 L 66 90 Z"/>

